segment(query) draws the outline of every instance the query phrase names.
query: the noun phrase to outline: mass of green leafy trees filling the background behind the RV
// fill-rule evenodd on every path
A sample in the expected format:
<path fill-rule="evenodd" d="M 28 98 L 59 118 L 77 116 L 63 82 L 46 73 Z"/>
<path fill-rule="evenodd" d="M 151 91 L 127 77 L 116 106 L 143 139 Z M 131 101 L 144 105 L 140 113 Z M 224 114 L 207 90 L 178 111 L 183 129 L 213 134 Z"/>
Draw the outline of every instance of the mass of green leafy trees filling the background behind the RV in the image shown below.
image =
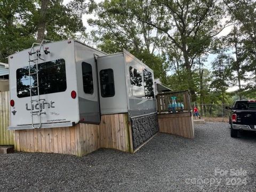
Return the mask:
<path fill-rule="evenodd" d="M 37 39 L 42 0 L 0 2 L 0 62 Z M 256 2 L 252 0 L 47 0 L 45 38 L 78 38 L 106 53 L 131 52 L 173 90 L 189 89 L 198 103 L 255 98 Z M 88 34 L 82 16 L 94 13 Z M 229 20 L 231 18 L 231 20 Z M 225 26 L 230 34 L 217 37 Z M 204 66 L 208 53 L 218 54 Z M 235 59 L 230 54 L 235 55 Z M 246 82 L 245 85 L 241 82 Z M 227 93 L 229 86 L 239 90 Z"/>

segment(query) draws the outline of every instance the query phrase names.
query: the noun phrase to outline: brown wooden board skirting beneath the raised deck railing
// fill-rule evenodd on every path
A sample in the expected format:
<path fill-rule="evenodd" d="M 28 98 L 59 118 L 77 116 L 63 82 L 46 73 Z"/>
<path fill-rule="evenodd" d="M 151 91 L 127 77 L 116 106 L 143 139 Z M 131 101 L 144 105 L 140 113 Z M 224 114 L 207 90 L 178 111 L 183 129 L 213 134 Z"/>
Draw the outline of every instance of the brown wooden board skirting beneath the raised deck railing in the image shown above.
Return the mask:
<path fill-rule="evenodd" d="M 158 114 L 159 132 L 194 138 L 193 116 L 190 111 L 183 113 Z"/>

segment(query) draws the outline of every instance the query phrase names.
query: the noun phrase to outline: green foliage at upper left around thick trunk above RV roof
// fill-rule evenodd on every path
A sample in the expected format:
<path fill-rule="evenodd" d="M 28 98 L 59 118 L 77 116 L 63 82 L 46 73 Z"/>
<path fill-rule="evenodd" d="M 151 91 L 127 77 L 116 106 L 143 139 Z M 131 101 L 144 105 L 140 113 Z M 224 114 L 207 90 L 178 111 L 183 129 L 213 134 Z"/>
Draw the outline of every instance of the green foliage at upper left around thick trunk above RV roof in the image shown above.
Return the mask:
<path fill-rule="evenodd" d="M 36 41 L 40 11 L 39 0 L 3 0 L 0 2 L 0 61 L 14 52 L 27 49 Z M 46 39 L 57 41 L 76 37 L 83 31 L 81 15 L 74 5 L 49 1 L 46 12 Z"/>

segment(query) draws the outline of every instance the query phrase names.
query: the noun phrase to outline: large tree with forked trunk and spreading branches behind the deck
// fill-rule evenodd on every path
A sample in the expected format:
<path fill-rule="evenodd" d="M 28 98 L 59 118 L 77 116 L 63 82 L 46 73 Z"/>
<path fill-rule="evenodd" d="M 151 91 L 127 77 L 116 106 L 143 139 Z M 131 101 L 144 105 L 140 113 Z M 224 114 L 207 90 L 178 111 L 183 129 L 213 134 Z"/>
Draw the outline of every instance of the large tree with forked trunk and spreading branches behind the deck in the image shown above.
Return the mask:
<path fill-rule="evenodd" d="M 151 5 L 154 5 L 155 12 L 161 10 L 161 14 L 145 17 L 144 14 L 136 11 L 135 6 L 138 6 L 136 4 L 132 11 L 127 9 L 127 14 L 132 14 L 138 20 L 162 31 L 166 39 L 182 52 L 183 65 L 187 74 L 186 81 L 193 100 L 196 100 L 195 82 L 191 81 L 194 60 L 209 50 L 212 39 L 227 25 L 225 23 L 222 26 L 219 22 L 224 13 L 221 3 L 199 0 L 155 0 L 151 1 L 148 7 Z M 147 10 L 148 7 L 145 9 Z M 163 22 L 158 22 L 159 20 Z"/>

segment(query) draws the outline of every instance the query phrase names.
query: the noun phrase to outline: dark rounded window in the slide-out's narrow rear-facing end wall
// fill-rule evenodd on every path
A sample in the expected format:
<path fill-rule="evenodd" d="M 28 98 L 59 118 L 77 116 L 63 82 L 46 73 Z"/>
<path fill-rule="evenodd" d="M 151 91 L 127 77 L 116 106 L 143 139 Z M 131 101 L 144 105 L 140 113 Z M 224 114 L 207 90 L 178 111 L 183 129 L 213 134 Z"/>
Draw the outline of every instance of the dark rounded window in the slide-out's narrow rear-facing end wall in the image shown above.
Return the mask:
<path fill-rule="evenodd" d="M 113 97 L 115 95 L 113 69 L 100 71 L 100 90 L 102 97 Z"/>

